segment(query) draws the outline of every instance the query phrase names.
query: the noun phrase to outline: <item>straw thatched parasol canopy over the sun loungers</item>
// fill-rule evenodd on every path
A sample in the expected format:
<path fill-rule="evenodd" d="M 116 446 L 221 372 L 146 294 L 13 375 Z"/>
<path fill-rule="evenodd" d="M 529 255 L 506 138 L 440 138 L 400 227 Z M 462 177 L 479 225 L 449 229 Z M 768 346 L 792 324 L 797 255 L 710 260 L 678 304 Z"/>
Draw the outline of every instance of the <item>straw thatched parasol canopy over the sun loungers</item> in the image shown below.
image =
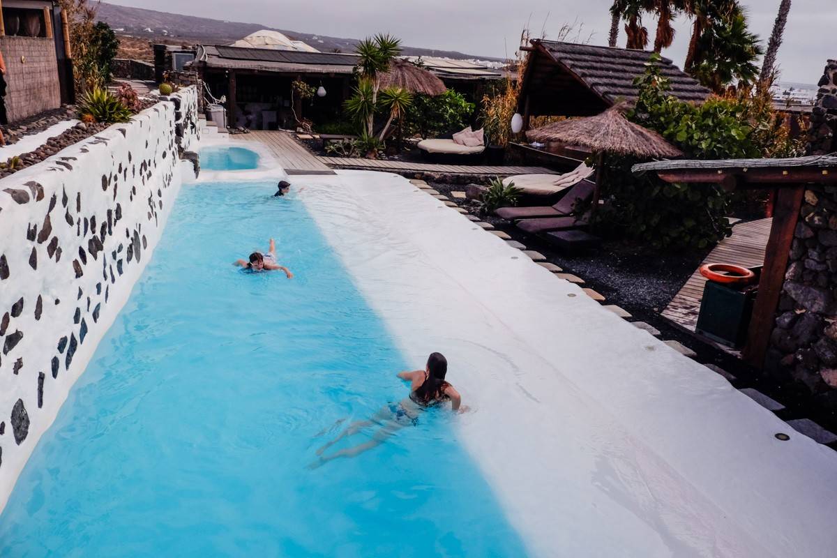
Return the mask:
<path fill-rule="evenodd" d="M 596 116 L 560 120 L 526 132 L 530 141 L 559 141 L 584 146 L 600 153 L 642 158 L 679 157 L 683 152 L 660 134 L 646 130 L 622 114 L 624 105 L 615 105 Z"/>

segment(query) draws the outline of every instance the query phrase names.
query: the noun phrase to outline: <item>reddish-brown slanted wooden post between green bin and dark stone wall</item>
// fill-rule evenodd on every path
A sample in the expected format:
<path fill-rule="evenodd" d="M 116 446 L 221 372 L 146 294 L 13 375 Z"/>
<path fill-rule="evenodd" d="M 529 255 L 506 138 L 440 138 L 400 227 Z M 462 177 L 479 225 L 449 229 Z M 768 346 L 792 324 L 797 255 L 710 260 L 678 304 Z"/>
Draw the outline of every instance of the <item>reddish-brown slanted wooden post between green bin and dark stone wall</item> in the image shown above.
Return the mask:
<path fill-rule="evenodd" d="M 793 231 L 799 218 L 799 208 L 805 188 L 803 186 L 779 188 L 776 195 L 773 226 L 770 228 L 768 246 L 765 249 L 762 277 L 758 281 L 758 295 L 752 310 L 747 345 L 742 356 L 752 366 L 763 368 L 770 345 L 770 334 L 776 321 L 779 294 L 782 293 L 785 270 Z"/>

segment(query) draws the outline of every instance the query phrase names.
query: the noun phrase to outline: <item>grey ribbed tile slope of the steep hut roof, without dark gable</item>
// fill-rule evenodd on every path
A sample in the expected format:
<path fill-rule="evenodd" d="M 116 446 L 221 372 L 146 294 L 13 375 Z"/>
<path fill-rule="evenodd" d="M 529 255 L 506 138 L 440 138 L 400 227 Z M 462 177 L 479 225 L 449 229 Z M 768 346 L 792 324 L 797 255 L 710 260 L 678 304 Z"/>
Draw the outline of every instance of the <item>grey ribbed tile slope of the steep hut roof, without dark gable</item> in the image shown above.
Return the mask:
<path fill-rule="evenodd" d="M 532 44 L 542 49 L 558 64 L 563 64 L 597 95 L 610 103 L 625 99 L 635 101 L 638 90 L 634 79 L 644 73 L 652 52 L 616 49 L 590 44 L 562 43 L 535 39 Z M 670 94 L 683 101 L 702 103 L 711 95 L 689 74 L 681 71 L 670 59 L 660 59 L 660 70 L 670 79 Z"/>

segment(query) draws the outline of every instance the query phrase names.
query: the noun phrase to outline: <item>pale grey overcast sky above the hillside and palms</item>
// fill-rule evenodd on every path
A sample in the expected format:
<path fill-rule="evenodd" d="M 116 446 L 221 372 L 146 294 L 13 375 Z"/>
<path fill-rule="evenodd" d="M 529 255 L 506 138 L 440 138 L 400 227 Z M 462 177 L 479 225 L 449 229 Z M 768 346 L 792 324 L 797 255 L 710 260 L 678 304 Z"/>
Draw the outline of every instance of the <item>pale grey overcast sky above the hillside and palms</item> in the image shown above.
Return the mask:
<path fill-rule="evenodd" d="M 513 54 L 521 29 L 531 21 L 547 38 L 563 23 L 577 22 L 591 43 L 606 44 L 612 0 L 107 0 L 110 3 L 207 18 L 361 38 L 387 31 L 415 47 L 460 50 L 484 56 Z M 750 27 L 767 44 L 780 0 L 742 0 Z M 548 15 L 548 18 L 547 18 Z M 678 23 L 675 44 L 665 56 L 682 65 L 688 22 Z M 655 22 L 646 23 L 653 35 Z M 837 2 L 794 0 L 779 51 L 783 81 L 816 83 L 826 59 L 837 59 Z M 624 33 L 620 45 L 624 44 Z"/>

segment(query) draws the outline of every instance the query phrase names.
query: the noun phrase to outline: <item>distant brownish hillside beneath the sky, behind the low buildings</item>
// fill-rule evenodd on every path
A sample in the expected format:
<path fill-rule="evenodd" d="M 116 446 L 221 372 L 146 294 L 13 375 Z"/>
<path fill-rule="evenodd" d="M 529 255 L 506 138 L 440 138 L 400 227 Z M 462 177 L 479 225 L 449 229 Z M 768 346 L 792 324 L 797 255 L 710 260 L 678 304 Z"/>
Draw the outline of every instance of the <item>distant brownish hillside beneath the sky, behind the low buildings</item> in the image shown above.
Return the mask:
<path fill-rule="evenodd" d="M 357 44 L 357 38 L 326 37 L 311 33 L 299 33 L 287 29 L 264 27 L 259 23 L 237 23 L 218 19 L 198 18 L 179 13 L 157 12 L 144 8 L 129 8 L 101 3 L 98 18 L 114 28 L 123 41 L 120 56 L 126 58 L 150 59 L 149 41 L 167 44 L 225 44 L 232 43 L 260 29 L 271 29 L 285 33 L 290 38 L 305 41 L 321 52 L 350 53 Z M 441 56 L 453 59 L 484 59 L 473 54 L 452 50 L 419 49 L 403 47 L 403 54 L 411 56 Z"/>

